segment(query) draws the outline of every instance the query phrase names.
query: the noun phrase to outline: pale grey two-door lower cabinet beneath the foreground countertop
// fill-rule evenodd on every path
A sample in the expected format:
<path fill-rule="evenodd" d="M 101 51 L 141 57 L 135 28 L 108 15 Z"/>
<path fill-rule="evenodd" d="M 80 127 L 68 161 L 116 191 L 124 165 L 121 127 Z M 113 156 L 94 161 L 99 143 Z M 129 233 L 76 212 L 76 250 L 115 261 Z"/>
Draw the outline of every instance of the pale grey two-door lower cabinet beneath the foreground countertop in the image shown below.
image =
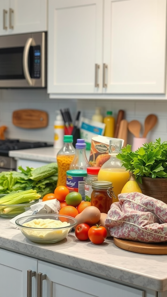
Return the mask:
<path fill-rule="evenodd" d="M 27 279 L 29 270 L 35 272 L 34 277 L 30 278 L 32 289 Z M 30 291 L 28 294 L 27 289 Z M 144 290 L 93 277 L 4 249 L 0 249 L 0 296 L 148 297 Z"/>

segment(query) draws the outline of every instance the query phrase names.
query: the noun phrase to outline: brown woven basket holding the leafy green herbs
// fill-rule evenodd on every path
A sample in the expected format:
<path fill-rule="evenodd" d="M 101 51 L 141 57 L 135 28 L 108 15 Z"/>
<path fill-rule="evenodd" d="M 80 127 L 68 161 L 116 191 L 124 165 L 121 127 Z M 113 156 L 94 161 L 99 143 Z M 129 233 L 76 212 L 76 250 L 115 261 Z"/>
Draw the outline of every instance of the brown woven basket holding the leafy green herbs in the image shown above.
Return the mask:
<path fill-rule="evenodd" d="M 151 178 L 142 176 L 142 184 L 138 184 L 144 195 L 161 200 L 167 204 L 167 178 Z"/>

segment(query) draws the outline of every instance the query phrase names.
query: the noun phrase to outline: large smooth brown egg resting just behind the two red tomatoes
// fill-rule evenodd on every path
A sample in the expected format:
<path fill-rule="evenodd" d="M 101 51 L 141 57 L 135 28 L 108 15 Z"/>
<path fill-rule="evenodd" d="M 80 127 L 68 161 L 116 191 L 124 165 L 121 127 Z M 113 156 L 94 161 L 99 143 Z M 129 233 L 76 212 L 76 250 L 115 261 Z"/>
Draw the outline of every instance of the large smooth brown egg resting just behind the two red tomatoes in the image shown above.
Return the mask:
<path fill-rule="evenodd" d="M 77 214 L 75 219 L 77 220 L 77 225 L 74 229 L 81 223 L 86 223 L 89 225 L 95 225 L 100 220 L 100 210 L 95 206 L 88 206 L 80 214 Z"/>

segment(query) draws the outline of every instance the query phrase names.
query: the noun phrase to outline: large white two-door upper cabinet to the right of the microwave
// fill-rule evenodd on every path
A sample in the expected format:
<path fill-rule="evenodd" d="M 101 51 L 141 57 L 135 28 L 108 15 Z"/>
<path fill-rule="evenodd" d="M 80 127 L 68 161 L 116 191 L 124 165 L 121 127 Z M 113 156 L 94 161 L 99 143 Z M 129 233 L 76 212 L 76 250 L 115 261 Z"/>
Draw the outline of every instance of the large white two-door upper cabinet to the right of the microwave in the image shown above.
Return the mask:
<path fill-rule="evenodd" d="M 50 0 L 48 93 L 165 94 L 167 0 Z"/>

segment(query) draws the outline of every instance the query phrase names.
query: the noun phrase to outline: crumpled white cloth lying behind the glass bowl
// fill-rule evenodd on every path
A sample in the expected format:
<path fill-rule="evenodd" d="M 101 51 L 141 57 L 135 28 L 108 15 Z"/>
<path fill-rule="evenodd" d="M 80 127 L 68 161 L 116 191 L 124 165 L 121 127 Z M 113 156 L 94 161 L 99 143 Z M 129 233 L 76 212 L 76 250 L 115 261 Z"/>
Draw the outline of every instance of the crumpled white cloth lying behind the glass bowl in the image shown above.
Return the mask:
<path fill-rule="evenodd" d="M 18 218 L 21 217 L 25 217 L 25 216 L 30 216 L 30 215 L 34 215 L 34 214 L 58 214 L 60 211 L 60 202 L 57 199 L 51 199 L 48 201 L 41 201 L 38 202 L 36 204 L 33 204 L 30 206 L 31 209 L 23 212 L 22 214 L 19 214 L 18 216 L 12 218 L 9 222 L 8 222 L 8 227 L 12 227 L 15 229 L 19 229 L 16 224 L 15 221 Z"/>

